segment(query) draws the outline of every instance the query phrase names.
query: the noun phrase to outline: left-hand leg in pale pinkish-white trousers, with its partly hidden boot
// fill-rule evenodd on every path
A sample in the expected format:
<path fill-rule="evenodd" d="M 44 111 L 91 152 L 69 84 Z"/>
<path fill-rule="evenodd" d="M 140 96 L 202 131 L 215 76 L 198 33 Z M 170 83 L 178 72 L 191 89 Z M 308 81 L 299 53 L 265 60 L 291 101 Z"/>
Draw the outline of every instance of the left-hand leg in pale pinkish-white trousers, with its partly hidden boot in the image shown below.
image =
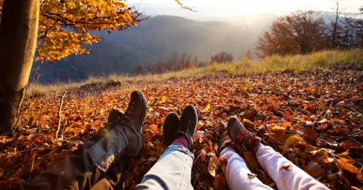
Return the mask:
<path fill-rule="evenodd" d="M 228 161 L 227 165 L 222 167 L 222 170 L 229 189 L 272 189 L 259 181 L 257 177 L 248 176 L 252 172 L 248 169 L 245 160 L 235 152 L 227 132 L 220 136 L 218 145 L 219 157 L 223 157 Z"/>

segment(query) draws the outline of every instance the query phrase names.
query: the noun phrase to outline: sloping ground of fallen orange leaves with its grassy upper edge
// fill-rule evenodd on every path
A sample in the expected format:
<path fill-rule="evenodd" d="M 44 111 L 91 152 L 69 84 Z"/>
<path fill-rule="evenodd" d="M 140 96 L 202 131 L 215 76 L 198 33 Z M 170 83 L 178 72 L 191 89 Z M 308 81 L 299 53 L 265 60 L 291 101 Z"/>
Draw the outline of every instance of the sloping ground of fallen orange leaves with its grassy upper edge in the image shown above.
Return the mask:
<path fill-rule="evenodd" d="M 272 57 L 262 65 L 245 60 L 155 76 L 120 77 L 119 81 L 68 84 L 62 107 L 63 138 L 57 139 L 55 118 L 62 89 L 35 94 L 24 104 L 23 130 L 12 138 L 0 136 L 0 189 L 27 181 L 60 162 L 104 127 L 111 108 L 125 110 L 135 89 L 143 91 L 148 106 L 143 125 L 145 152 L 128 165 L 124 189 L 135 187 L 155 164 L 166 148 L 161 143 L 164 117 L 170 111 L 180 114 L 186 104 L 195 106 L 199 115 L 191 174 L 195 189 L 225 189 L 223 162 L 213 162 L 213 157 L 230 116 L 238 116 L 264 145 L 330 189 L 362 188 L 362 55 L 362 50 L 319 52 Z M 163 96 L 164 101 L 155 104 Z M 251 171 L 276 188 L 249 154 L 241 156 Z"/>

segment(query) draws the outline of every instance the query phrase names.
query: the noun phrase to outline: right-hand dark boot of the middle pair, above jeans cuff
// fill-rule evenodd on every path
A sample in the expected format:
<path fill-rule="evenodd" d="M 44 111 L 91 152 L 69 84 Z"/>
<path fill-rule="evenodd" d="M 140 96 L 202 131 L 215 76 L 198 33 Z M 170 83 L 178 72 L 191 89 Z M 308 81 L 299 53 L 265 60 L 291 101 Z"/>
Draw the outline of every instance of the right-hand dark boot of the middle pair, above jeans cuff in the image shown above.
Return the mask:
<path fill-rule="evenodd" d="M 180 135 L 185 135 L 188 139 L 189 151 L 193 149 L 193 137 L 196 130 L 197 122 L 198 115 L 196 114 L 196 108 L 191 105 L 186 106 L 183 113 L 181 113 L 180 123 L 177 127 L 173 139 L 177 138 Z"/>

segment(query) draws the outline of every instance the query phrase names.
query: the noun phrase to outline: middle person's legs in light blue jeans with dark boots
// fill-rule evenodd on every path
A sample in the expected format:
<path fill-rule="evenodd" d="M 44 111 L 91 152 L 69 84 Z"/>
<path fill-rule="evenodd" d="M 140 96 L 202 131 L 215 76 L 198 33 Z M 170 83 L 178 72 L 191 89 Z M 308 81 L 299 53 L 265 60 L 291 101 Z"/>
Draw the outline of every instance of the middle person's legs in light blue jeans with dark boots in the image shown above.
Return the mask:
<path fill-rule="evenodd" d="M 193 106 L 186 106 L 180 121 L 176 113 L 168 114 L 163 126 L 167 150 L 145 174 L 136 189 L 193 189 L 191 166 L 194 155 L 191 149 L 197 121 Z"/>

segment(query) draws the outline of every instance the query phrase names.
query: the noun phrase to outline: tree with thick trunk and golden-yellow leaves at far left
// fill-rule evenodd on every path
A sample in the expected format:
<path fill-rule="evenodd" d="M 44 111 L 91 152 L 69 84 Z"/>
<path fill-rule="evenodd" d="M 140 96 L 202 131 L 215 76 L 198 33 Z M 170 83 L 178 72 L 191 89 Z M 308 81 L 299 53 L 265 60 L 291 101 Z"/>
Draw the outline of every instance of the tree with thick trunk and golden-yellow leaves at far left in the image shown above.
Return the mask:
<path fill-rule="evenodd" d="M 116 0 L 0 0 L 0 133 L 20 125 L 35 47 L 41 62 L 88 53 L 85 45 L 101 40 L 90 31 L 125 30 L 140 15 Z"/>

